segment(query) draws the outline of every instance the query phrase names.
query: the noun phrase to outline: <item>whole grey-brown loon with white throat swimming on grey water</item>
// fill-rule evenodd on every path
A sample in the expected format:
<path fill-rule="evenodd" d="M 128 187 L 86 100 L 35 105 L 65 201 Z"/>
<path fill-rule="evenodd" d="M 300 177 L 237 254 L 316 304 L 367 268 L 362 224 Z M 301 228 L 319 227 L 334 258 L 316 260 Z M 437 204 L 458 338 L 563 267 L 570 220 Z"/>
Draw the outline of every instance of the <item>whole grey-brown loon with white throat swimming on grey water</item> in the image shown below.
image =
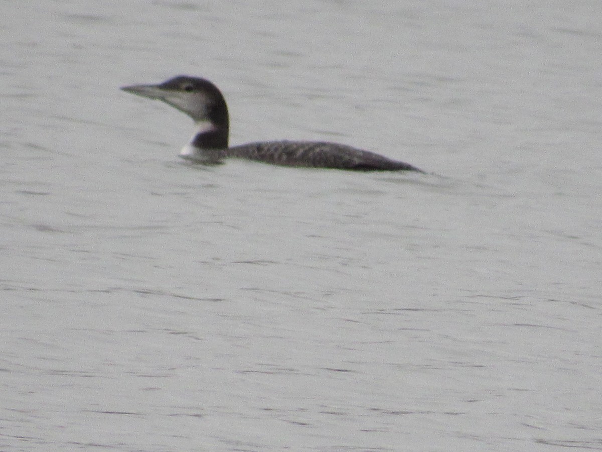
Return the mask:
<path fill-rule="evenodd" d="M 156 85 L 124 86 L 121 89 L 163 101 L 193 119 L 196 132 L 180 152 L 180 157 L 192 162 L 215 164 L 227 157 L 235 157 L 284 166 L 423 172 L 408 163 L 338 143 L 269 141 L 228 147 L 226 100 L 217 86 L 204 78 L 180 75 Z"/>

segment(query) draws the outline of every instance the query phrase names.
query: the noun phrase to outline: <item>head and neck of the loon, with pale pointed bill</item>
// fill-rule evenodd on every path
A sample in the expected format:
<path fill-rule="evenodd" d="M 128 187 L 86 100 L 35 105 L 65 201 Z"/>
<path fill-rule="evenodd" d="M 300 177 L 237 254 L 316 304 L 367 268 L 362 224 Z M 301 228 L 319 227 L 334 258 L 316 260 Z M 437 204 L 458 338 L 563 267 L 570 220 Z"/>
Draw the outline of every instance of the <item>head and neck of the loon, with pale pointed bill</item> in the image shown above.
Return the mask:
<path fill-rule="evenodd" d="M 149 99 L 157 99 L 186 113 L 197 125 L 190 144 L 182 156 L 194 149 L 228 147 L 228 105 L 222 92 L 208 80 L 179 75 L 155 85 L 123 86 L 123 91 Z"/>

